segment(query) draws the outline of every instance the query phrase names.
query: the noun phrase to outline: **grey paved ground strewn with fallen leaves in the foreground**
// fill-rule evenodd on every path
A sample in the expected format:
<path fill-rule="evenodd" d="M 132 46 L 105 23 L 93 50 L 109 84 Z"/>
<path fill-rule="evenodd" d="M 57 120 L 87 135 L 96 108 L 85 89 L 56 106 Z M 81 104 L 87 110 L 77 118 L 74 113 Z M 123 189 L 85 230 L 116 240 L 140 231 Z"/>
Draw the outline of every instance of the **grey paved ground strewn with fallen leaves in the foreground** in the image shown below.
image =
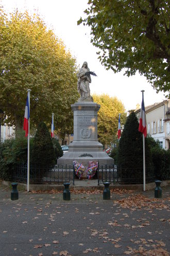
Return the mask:
<path fill-rule="evenodd" d="M 117 189 L 105 201 L 102 191 L 72 191 L 71 201 L 20 191 L 11 201 L 0 186 L 0 256 L 169 255 L 169 191 Z"/>

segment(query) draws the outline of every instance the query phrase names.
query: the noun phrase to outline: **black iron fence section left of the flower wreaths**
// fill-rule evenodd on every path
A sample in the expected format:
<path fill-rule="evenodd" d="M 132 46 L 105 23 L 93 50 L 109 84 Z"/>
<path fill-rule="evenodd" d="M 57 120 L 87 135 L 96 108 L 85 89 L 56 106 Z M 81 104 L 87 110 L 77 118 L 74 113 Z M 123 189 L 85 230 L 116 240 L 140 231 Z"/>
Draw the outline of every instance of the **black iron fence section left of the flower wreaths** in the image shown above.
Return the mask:
<path fill-rule="evenodd" d="M 62 184 L 65 182 L 74 185 L 75 170 L 73 166 L 59 167 L 47 166 L 30 166 L 29 183 L 30 184 Z M 27 182 L 27 164 L 17 166 L 13 172 L 12 179 L 15 182 Z"/>

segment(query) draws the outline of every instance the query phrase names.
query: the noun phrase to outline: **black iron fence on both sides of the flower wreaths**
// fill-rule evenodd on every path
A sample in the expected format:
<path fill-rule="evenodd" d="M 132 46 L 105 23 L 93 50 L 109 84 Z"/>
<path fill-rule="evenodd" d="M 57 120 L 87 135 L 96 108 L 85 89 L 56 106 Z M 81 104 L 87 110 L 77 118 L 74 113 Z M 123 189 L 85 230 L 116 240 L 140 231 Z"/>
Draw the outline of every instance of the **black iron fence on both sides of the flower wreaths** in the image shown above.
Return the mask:
<path fill-rule="evenodd" d="M 154 169 L 145 171 L 146 183 L 155 181 Z M 96 175 L 93 179 L 98 180 L 98 185 L 104 182 L 110 184 L 142 184 L 143 168 L 121 168 L 117 165 L 98 166 Z M 27 164 L 17 166 L 13 171 L 12 180 L 15 182 L 27 182 Z M 75 169 L 74 166 L 52 166 L 41 168 L 39 166 L 30 166 L 29 183 L 30 184 L 63 184 L 69 182 L 74 185 Z"/>

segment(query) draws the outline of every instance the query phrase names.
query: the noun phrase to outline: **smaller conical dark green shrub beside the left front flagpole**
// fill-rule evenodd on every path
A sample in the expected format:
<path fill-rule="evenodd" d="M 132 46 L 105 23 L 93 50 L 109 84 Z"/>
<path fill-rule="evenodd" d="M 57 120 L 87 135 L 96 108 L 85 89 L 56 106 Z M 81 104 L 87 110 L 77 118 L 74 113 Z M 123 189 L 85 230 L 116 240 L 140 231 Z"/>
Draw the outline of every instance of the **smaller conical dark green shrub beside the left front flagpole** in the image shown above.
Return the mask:
<path fill-rule="evenodd" d="M 55 164 L 52 138 L 44 122 L 40 122 L 33 140 L 31 163 L 39 167 Z"/>

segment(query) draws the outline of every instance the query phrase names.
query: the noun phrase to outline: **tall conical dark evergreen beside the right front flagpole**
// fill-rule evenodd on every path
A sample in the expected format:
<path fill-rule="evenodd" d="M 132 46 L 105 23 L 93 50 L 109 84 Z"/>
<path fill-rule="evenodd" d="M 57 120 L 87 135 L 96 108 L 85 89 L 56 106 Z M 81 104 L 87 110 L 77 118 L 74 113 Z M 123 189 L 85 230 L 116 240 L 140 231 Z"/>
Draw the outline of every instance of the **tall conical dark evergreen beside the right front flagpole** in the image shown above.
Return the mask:
<path fill-rule="evenodd" d="M 117 164 L 122 168 L 123 178 L 128 173 L 131 178 L 138 179 L 139 172 L 143 169 L 143 136 L 138 129 L 137 116 L 132 112 L 127 117 L 117 153 Z M 146 169 L 152 167 L 152 156 L 147 140 L 145 140 L 145 164 Z"/>

